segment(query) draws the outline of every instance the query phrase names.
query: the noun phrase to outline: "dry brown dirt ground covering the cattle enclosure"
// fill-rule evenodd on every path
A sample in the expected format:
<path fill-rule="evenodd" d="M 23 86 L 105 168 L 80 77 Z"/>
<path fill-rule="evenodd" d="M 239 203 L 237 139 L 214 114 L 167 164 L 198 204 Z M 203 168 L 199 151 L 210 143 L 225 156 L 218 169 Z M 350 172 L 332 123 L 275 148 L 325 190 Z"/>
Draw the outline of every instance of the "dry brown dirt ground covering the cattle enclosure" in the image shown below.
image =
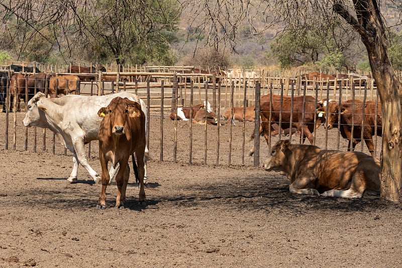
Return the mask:
<path fill-rule="evenodd" d="M 233 128 L 228 165 L 228 125 L 217 139 L 193 126 L 193 164 L 188 164 L 188 123 L 179 122 L 177 163 L 172 160 L 173 122 L 164 120 L 160 162 L 159 119 L 151 118 L 147 204 L 138 205 L 133 175 L 125 209 L 114 207 L 117 189 L 107 189 L 107 209 L 96 209 L 100 186 L 80 167 L 77 184 L 66 181 L 71 154 L 24 151 L 23 113 L 17 113 L 18 143 L 5 150 L 0 114 L 1 267 L 401 267 L 402 205 L 378 198 L 348 200 L 292 195 L 282 175 L 241 164 L 242 125 Z M 11 115 L 10 120 L 12 120 Z M 247 125 L 247 135 L 252 125 Z M 11 126 L 11 130 L 12 130 Z M 323 135 L 322 133 L 320 134 Z M 211 139 L 211 140 L 210 140 Z M 334 142 L 336 138 L 330 139 Z M 251 146 L 246 141 L 246 149 Z M 262 157 L 268 155 L 261 139 Z M 100 171 L 97 142 L 90 164 Z M 345 142 L 342 143 L 345 148 Z"/>

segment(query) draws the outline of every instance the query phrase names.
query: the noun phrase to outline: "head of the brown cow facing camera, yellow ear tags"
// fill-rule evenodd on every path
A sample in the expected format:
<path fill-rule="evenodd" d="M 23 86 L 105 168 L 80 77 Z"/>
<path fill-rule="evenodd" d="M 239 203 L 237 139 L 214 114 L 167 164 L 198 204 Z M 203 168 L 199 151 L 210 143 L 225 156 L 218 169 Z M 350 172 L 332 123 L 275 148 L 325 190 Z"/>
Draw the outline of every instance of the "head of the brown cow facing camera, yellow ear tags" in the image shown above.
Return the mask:
<path fill-rule="evenodd" d="M 100 108 L 97 115 L 104 118 L 102 125 L 110 127 L 111 133 L 123 135 L 125 134 L 124 126 L 127 119 L 129 117 L 140 117 L 141 113 L 143 112 L 139 103 L 130 101 L 127 98 L 116 97 L 108 107 Z"/>

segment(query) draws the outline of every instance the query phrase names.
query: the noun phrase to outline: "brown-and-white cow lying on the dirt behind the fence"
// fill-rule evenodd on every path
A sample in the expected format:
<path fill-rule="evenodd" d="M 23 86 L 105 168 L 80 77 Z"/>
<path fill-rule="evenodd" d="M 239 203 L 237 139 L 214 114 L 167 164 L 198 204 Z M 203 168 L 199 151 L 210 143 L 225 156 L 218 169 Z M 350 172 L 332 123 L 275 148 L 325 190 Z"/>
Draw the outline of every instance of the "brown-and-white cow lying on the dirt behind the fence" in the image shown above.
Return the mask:
<path fill-rule="evenodd" d="M 192 111 L 192 123 L 196 124 L 207 124 L 218 125 L 218 118 L 215 113 L 211 110 L 211 104 L 207 104 L 207 109 L 205 101 L 202 104 L 191 107 L 179 107 L 177 108 L 177 116 L 175 111 L 171 112 L 169 115 L 170 120 L 190 120 L 190 113 Z"/>

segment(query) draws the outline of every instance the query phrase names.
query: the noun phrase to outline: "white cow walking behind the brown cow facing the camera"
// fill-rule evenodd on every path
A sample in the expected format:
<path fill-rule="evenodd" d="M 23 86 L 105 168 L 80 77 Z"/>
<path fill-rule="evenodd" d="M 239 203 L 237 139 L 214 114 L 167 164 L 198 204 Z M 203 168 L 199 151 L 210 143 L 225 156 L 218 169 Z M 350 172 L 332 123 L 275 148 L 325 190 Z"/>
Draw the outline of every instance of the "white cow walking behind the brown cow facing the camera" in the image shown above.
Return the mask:
<path fill-rule="evenodd" d="M 89 172 L 93 181 L 100 181 L 100 175 L 92 169 L 85 157 L 84 145 L 98 139 L 102 118 L 97 115 L 100 108 L 106 107 L 116 97 L 128 98 L 141 104 L 141 110 L 147 115 L 146 105 L 137 95 L 122 92 L 105 96 L 68 95 L 57 99 L 48 99 L 43 93 L 37 93 L 28 102 L 28 111 L 23 124 L 26 127 L 48 128 L 56 133 L 65 148 L 73 153 L 73 169 L 67 181 L 77 181 L 78 164 Z M 145 125 L 147 122 L 145 122 Z M 148 155 L 148 148 L 145 148 Z M 111 170 L 111 180 L 116 170 Z M 144 183 L 146 181 L 146 168 Z"/>

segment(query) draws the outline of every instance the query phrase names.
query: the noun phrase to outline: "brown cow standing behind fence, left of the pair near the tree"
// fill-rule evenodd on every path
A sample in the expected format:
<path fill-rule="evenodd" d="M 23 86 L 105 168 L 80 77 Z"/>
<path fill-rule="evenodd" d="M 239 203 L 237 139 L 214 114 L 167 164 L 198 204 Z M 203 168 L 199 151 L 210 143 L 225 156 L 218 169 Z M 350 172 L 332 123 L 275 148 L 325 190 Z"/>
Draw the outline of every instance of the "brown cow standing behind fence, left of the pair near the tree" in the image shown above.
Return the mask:
<path fill-rule="evenodd" d="M 260 100 L 260 117 L 262 132 L 264 133 L 265 140 L 267 144 L 269 143 L 269 133 L 272 131 L 273 124 L 278 124 L 281 122 L 282 129 L 290 128 L 290 115 L 292 114 L 292 128 L 297 129 L 297 133 L 300 137 L 300 143 L 304 143 L 306 138 L 309 139 L 310 143 L 313 144 L 313 132 L 315 128 L 321 126 L 323 118 L 316 116 L 316 99 L 311 96 L 293 97 L 293 112 L 291 113 L 291 97 L 282 96 L 282 105 L 280 102 L 280 95 L 272 95 L 271 104 L 271 124 L 269 124 L 269 114 L 270 114 L 270 95 L 264 95 Z M 305 110 L 303 110 L 303 105 L 305 103 Z M 304 114 L 304 115 L 303 115 Z M 316 124 L 314 124 L 314 119 L 316 118 Z M 303 131 L 303 137 L 302 137 Z M 261 130 L 260 130 L 261 132 Z M 261 133 L 262 133 L 261 132 Z M 292 131 L 293 132 L 293 131 Z M 254 135 L 253 135 L 254 138 Z M 250 155 L 253 155 L 254 147 L 250 150 Z"/>

